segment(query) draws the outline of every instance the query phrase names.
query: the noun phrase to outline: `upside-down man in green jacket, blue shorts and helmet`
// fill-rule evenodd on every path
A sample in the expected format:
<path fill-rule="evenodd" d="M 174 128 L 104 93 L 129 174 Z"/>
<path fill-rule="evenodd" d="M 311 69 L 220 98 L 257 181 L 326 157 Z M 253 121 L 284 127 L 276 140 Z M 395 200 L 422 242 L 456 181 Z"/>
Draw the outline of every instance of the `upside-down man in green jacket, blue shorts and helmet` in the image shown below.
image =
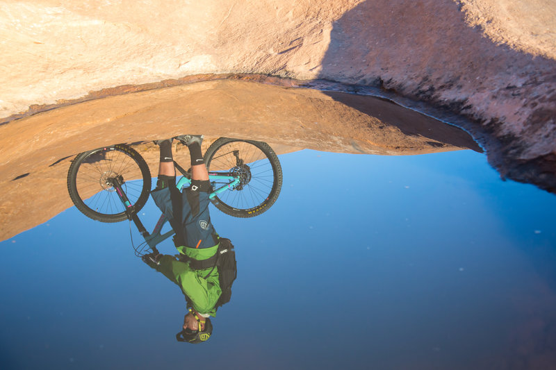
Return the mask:
<path fill-rule="evenodd" d="M 174 139 L 188 146 L 191 157 L 191 185 L 183 192 L 176 187 Z M 203 261 L 215 260 L 218 236 L 208 214 L 211 185 L 204 165 L 202 140 L 202 135 L 181 135 L 156 142 L 160 146 L 160 163 L 158 181 L 151 195 L 170 221 L 176 233 L 174 244 L 183 258 L 176 260 L 172 255 L 157 252 L 143 256 L 143 261 L 176 283 L 186 296 L 189 312 L 183 318 L 183 330 L 177 339 L 190 343 L 204 342 L 211 336 L 212 324 L 208 317 L 215 316 L 215 306 L 222 294 L 218 269 L 212 263 L 208 267 L 203 265 Z"/>

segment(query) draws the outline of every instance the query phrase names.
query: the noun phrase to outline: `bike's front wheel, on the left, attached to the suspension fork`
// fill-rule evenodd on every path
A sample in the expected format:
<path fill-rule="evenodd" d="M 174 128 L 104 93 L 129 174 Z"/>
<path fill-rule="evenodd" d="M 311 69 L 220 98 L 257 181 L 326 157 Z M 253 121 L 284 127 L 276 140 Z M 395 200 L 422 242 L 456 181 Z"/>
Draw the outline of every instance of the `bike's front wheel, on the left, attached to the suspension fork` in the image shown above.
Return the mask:
<path fill-rule="evenodd" d="M 151 172 L 141 155 L 125 144 L 77 155 L 67 172 L 67 190 L 85 216 L 102 222 L 123 221 L 126 208 L 112 185 L 114 178 L 119 178 L 138 212 L 149 198 Z"/>

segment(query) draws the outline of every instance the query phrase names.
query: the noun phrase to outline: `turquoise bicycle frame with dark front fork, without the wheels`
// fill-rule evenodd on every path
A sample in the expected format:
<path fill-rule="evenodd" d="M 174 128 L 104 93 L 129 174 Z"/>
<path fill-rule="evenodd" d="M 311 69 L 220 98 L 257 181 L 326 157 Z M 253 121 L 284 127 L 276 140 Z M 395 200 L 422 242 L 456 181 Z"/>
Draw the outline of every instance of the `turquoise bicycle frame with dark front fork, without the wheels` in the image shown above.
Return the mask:
<path fill-rule="evenodd" d="M 183 177 L 180 178 L 176 184 L 176 187 L 179 190 L 182 190 L 183 188 L 191 185 L 191 179 L 189 178 L 190 175 L 186 171 L 184 171 L 181 167 L 179 167 L 177 163 L 174 162 L 174 165 L 176 165 L 176 168 L 179 169 L 179 171 L 181 171 L 181 173 L 183 174 Z M 116 193 L 120 198 L 120 201 L 122 201 L 122 203 L 126 207 L 126 215 L 128 219 L 133 221 L 133 224 L 136 225 L 137 229 L 139 230 L 139 233 L 141 233 L 142 237 L 145 239 L 145 242 L 148 244 L 149 248 L 152 249 L 154 252 L 158 252 L 156 249 L 156 245 L 163 242 L 165 239 L 171 237 L 172 235 L 174 235 L 175 234 L 174 230 L 169 230 L 166 233 L 161 234 L 164 224 L 168 221 L 165 215 L 161 215 L 161 217 L 156 222 L 156 226 L 154 226 L 152 233 L 149 233 L 145 228 L 145 226 L 143 226 L 141 220 L 137 215 L 137 212 L 133 208 L 133 205 L 129 202 L 129 199 L 127 199 L 125 192 L 122 190 L 123 183 L 121 182 L 120 177 L 113 179 L 113 186 L 115 187 Z M 221 187 L 218 187 L 218 189 L 213 190 L 213 192 L 211 192 L 211 194 L 208 195 L 209 199 L 213 199 L 218 194 L 225 192 L 227 190 L 234 190 L 234 187 L 236 187 L 236 185 L 240 183 L 239 176 L 234 176 L 234 174 L 231 174 L 230 172 L 224 172 L 224 173 L 209 172 L 208 180 L 211 182 L 211 184 L 215 183 L 215 181 L 217 180 L 219 182 L 222 181 L 227 182 Z"/>

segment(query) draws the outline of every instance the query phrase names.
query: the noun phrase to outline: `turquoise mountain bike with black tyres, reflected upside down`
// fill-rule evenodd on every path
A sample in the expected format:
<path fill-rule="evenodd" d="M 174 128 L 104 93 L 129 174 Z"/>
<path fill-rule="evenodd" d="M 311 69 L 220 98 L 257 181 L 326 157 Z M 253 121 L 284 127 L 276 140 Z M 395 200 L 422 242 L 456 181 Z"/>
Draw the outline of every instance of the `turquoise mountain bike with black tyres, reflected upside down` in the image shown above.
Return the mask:
<path fill-rule="evenodd" d="M 211 182 L 209 199 L 218 210 L 234 217 L 254 217 L 268 210 L 278 198 L 282 170 L 276 153 L 264 142 L 220 137 L 208 147 L 204 162 Z M 191 183 L 191 176 L 177 162 L 181 173 L 177 187 Z M 85 216 L 102 222 L 133 221 L 153 249 L 174 232 L 161 235 L 164 215 L 148 233 L 138 217 L 152 187 L 145 159 L 127 144 L 85 151 L 76 156 L 67 173 L 67 190 Z"/>

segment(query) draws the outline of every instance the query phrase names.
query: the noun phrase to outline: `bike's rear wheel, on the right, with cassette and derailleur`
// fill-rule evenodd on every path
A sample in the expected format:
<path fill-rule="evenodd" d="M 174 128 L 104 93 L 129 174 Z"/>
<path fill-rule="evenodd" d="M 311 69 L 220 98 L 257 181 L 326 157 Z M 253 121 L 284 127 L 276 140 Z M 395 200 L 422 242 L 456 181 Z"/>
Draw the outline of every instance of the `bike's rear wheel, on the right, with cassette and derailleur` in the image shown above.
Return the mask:
<path fill-rule="evenodd" d="M 211 201 L 234 217 L 261 215 L 275 203 L 282 186 L 282 169 L 276 153 L 264 142 L 220 137 L 208 147 L 204 162 L 209 172 L 231 172 L 240 177 L 233 190 Z M 214 189 L 226 183 L 212 182 Z"/>

